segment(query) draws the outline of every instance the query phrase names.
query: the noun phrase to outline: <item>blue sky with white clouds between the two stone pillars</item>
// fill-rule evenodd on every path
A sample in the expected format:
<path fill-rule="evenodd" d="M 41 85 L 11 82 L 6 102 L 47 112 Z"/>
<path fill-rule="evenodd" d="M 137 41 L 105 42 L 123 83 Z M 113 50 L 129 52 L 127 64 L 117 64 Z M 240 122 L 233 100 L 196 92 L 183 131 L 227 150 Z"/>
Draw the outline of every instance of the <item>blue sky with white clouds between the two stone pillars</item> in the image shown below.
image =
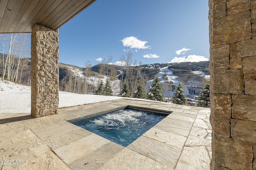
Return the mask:
<path fill-rule="evenodd" d="M 118 63 L 126 51 L 142 64 L 207 60 L 208 25 L 206 0 L 97 0 L 60 27 L 60 63 Z"/>

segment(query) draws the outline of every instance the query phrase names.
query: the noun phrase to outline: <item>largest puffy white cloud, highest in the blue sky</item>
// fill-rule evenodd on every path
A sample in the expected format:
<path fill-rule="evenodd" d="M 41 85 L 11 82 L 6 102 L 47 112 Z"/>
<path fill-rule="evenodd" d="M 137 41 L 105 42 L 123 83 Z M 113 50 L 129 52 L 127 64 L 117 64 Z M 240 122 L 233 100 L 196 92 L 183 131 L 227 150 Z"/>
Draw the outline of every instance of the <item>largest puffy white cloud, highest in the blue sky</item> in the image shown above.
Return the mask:
<path fill-rule="evenodd" d="M 124 47 L 130 47 L 131 49 L 150 49 L 150 46 L 145 45 L 148 41 L 141 41 L 137 37 L 126 37 L 121 40 Z"/>

